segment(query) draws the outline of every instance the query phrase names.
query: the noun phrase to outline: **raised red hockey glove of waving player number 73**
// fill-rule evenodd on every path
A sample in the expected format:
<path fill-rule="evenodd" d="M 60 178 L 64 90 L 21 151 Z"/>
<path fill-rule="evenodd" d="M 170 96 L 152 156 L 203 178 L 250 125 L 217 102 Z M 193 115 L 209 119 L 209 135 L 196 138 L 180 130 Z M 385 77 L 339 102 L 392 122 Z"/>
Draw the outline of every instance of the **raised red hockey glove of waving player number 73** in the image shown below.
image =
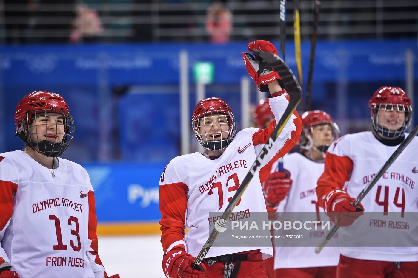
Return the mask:
<path fill-rule="evenodd" d="M 278 55 L 277 50 L 273 43 L 267 40 L 255 40 L 252 43 L 247 44 L 249 51 L 253 52 L 254 49 L 263 50 Z M 268 83 L 275 81 L 276 79 L 281 81 L 280 76 L 274 69 L 262 60 L 260 57 L 252 56 L 250 53 L 242 53 L 242 59 L 244 60 L 245 70 L 250 77 L 257 84 L 258 89 L 262 92 L 268 92 Z M 280 82 L 280 86 L 284 88 L 283 82 Z"/>

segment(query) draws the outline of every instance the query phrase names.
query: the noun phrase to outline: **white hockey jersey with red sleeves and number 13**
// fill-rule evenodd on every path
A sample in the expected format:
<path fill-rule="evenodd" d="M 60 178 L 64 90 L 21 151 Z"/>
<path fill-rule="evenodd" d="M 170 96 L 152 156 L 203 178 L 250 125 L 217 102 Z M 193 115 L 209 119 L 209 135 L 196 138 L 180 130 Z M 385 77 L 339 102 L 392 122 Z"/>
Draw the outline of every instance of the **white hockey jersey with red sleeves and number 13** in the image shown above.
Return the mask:
<path fill-rule="evenodd" d="M 59 158 L 51 172 L 25 152 L 0 154 L 0 264 L 22 278 L 107 277 L 87 171 Z"/>

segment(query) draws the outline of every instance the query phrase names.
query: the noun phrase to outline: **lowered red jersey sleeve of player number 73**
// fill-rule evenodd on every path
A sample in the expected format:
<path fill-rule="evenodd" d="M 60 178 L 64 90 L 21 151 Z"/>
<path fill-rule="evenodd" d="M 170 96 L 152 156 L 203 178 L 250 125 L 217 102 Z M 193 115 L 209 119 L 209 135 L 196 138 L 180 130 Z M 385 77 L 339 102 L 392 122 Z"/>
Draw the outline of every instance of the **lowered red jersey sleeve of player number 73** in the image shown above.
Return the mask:
<path fill-rule="evenodd" d="M 160 229 L 164 253 L 176 247 L 186 250 L 187 191 L 188 187 L 178 178 L 173 163 L 168 163 L 161 174 L 158 205 L 162 215 Z"/>

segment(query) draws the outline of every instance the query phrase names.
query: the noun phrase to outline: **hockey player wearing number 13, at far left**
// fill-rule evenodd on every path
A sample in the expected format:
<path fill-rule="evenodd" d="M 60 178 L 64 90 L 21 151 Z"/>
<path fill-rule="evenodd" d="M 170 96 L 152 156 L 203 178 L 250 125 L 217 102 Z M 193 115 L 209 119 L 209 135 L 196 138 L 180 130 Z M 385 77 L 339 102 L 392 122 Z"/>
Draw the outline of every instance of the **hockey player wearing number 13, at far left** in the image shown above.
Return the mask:
<path fill-rule="evenodd" d="M 107 278 L 89 175 L 59 158 L 74 137 L 68 105 L 34 91 L 19 101 L 15 124 L 25 147 L 0 154 L 0 278 Z"/>

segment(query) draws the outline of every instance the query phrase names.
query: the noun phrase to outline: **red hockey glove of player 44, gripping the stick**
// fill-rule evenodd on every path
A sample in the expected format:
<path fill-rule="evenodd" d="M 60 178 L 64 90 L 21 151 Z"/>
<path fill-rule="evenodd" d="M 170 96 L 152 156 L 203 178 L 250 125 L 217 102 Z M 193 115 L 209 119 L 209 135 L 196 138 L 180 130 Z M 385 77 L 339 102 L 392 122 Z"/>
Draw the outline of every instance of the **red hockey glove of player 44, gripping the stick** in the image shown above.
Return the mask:
<path fill-rule="evenodd" d="M 336 189 L 326 195 L 324 210 L 336 225 L 347 227 L 363 215 L 362 204 L 357 207 L 351 205 L 354 200 L 347 192 Z"/>

